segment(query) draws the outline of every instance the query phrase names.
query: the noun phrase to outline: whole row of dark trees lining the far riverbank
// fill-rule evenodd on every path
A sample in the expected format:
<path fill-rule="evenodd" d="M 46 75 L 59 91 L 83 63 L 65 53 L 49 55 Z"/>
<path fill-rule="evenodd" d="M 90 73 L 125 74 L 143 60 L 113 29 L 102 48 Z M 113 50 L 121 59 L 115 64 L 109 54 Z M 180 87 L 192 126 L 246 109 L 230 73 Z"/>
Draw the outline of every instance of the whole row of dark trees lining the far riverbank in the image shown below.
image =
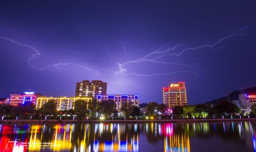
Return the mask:
<path fill-rule="evenodd" d="M 223 115 L 237 115 L 241 113 L 241 109 L 232 102 L 219 101 L 215 106 L 209 104 L 197 104 L 186 106 L 175 106 L 172 113 L 166 112 L 164 104 L 150 102 L 145 106 L 146 112 L 143 113 L 138 106 L 122 103 L 121 111 L 116 110 L 116 104 L 109 100 L 97 103 L 92 100 L 87 103 L 83 100 L 75 102 L 75 108 L 69 110 L 57 110 L 56 103 L 49 100 L 38 110 L 29 102 L 19 106 L 10 106 L 8 104 L 0 104 L 0 116 L 5 119 L 96 119 L 96 117 L 104 117 L 104 119 L 114 119 L 122 117 L 141 118 L 141 117 L 166 117 L 166 118 L 199 118 L 199 117 L 222 117 Z M 251 107 L 251 115 L 256 115 L 256 106 Z"/>

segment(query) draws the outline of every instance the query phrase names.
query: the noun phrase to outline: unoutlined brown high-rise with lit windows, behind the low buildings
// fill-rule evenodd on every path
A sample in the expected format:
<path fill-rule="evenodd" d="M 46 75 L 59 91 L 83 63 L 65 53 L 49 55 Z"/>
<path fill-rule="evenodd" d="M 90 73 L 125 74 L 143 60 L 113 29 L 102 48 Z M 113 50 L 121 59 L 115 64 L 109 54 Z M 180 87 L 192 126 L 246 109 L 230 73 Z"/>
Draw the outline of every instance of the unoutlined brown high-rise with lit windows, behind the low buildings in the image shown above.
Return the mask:
<path fill-rule="evenodd" d="M 106 95 L 106 83 L 93 80 L 89 82 L 88 80 L 83 80 L 77 83 L 76 87 L 76 97 L 91 97 L 95 98 L 96 95 Z"/>

